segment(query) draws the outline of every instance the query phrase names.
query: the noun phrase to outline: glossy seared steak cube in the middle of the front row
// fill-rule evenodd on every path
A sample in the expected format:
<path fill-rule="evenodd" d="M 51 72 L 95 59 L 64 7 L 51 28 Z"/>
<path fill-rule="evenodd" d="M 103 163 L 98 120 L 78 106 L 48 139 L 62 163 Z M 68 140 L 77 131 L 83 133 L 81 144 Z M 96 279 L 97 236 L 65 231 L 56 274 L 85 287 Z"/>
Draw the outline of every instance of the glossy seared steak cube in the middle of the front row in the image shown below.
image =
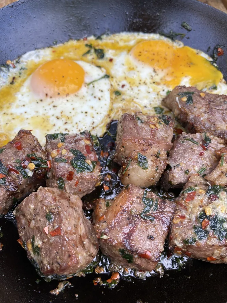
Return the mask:
<path fill-rule="evenodd" d="M 160 260 L 174 207 L 131 184 L 114 200 L 99 199 L 94 229 L 101 251 L 117 265 L 152 271 Z"/>

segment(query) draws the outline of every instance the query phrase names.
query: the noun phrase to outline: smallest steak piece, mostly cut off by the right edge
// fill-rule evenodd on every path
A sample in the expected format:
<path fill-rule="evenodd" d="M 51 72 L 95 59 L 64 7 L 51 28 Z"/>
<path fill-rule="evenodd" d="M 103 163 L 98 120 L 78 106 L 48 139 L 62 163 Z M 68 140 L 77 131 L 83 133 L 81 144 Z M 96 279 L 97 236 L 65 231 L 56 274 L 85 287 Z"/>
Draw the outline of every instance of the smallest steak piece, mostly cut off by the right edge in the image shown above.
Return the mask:
<path fill-rule="evenodd" d="M 205 179 L 211 184 L 219 184 L 221 186 L 227 185 L 227 148 L 223 147 L 215 151 L 216 154 L 221 157 L 217 167 L 205 177 Z"/>

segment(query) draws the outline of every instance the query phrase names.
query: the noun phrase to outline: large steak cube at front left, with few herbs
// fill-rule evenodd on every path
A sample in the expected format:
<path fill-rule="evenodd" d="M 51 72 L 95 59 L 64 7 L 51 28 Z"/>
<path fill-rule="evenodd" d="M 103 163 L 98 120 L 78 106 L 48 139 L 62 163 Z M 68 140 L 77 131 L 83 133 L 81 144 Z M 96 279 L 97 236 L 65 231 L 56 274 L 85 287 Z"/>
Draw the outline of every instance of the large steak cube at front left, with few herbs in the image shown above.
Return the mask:
<path fill-rule="evenodd" d="M 98 251 L 77 195 L 40 187 L 15 210 L 27 256 L 44 278 L 65 279 L 85 268 Z"/>

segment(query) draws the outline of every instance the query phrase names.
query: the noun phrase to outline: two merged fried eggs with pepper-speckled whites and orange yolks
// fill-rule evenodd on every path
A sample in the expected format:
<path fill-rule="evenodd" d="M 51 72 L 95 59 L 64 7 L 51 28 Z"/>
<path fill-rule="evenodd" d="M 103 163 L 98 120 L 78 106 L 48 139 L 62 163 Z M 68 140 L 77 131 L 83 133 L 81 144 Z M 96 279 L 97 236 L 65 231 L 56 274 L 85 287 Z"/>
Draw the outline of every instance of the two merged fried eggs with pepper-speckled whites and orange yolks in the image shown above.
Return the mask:
<path fill-rule="evenodd" d="M 20 128 L 103 135 L 124 112 L 155 114 L 176 85 L 227 94 L 205 53 L 159 34 L 119 33 L 28 52 L 0 70 L 0 145 Z M 168 110 L 164 111 L 169 114 Z"/>

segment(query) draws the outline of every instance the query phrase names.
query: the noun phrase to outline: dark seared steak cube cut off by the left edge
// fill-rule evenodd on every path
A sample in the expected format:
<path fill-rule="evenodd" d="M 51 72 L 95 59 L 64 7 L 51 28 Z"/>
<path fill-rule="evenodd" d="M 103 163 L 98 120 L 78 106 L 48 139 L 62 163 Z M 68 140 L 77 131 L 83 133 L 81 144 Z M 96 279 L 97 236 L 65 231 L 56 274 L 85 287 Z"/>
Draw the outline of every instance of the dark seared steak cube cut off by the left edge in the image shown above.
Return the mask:
<path fill-rule="evenodd" d="M 16 137 L 0 148 L 0 214 L 20 199 L 45 185 L 48 168 L 38 139 L 21 129 Z"/>

